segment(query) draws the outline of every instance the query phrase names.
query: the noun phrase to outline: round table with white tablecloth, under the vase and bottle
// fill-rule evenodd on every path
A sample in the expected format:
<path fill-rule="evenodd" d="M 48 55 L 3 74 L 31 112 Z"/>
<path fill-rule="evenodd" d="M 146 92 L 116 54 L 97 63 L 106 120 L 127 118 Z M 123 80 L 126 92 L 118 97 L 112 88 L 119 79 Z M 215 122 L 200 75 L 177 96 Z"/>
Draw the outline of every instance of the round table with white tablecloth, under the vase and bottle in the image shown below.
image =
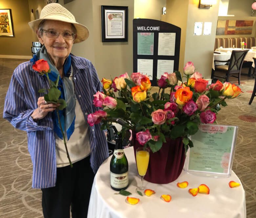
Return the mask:
<path fill-rule="evenodd" d="M 97 171 L 92 187 L 88 218 L 246 218 L 245 191 L 241 181 L 232 171 L 228 178 L 214 178 L 194 175 L 183 171 L 179 178 L 169 184 L 154 184 L 144 181 L 147 189 L 155 190 L 155 194 L 140 196 L 136 188 L 140 185 L 133 147 L 124 150 L 129 162 L 129 197 L 140 199 L 137 205 L 126 203 L 126 196 L 110 187 L 110 160 L 105 160 Z M 229 181 L 236 181 L 241 186 L 230 188 Z M 188 187 L 181 189 L 177 182 L 187 181 Z M 210 194 L 197 194 L 193 197 L 188 189 L 206 184 Z M 170 194 L 172 200 L 164 202 L 160 196 Z"/>

